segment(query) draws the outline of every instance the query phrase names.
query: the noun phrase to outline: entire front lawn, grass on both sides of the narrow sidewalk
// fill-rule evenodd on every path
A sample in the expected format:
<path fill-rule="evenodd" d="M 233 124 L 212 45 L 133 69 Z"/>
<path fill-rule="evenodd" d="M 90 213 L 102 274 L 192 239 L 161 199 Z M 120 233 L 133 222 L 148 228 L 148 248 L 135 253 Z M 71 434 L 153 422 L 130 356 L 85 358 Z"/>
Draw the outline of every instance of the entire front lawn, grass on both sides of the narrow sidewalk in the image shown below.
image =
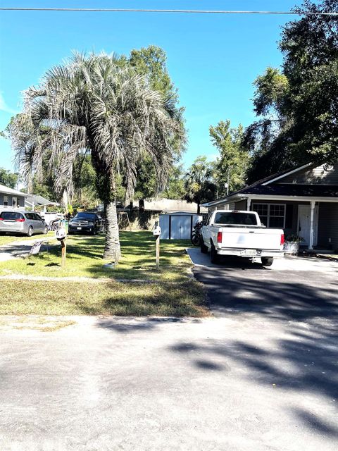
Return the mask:
<path fill-rule="evenodd" d="M 50 240 L 53 242 L 53 239 Z M 1 280 L 0 314 L 113 314 L 132 316 L 206 316 L 203 286 L 189 278 L 191 263 L 182 240 L 161 241 L 161 269 L 155 268 L 155 238 L 149 232 L 120 233 L 122 258 L 104 268 L 104 236 L 67 239 L 67 262 L 61 246 L 26 259 L 0 263 L 0 275 L 57 277 L 60 280 Z M 110 278 L 69 281 L 65 276 Z M 144 283 L 119 282 L 140 279 Z"/>

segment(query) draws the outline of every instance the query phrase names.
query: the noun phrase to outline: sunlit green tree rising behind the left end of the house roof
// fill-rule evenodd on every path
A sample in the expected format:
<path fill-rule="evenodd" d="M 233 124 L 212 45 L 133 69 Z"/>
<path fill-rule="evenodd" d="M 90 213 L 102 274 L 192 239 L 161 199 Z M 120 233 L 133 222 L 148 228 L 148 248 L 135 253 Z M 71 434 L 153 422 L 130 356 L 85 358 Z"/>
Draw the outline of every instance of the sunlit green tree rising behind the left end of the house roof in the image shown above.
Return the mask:
<path fill-rule="evenodd" d="M 218 196 L 239 190 L 245 183 L 249 152 L 243 147 L 243 127 L 230 128 L 230 121 L 220 121 L 209 128 L 211 141 L 220 152 L 214 163 Z"/>

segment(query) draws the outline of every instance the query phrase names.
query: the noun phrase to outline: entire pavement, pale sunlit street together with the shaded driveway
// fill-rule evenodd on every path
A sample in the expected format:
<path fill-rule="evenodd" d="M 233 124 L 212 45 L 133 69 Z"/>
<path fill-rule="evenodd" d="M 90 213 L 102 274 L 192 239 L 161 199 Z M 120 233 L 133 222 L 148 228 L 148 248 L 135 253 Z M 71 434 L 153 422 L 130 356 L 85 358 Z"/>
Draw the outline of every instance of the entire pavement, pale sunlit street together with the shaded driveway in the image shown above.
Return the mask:
<path fill-rule="evenodd" d="M 1 451 L 337 450 L 336 270 L 196 266 L 206 319 L 0 317 Z"/>

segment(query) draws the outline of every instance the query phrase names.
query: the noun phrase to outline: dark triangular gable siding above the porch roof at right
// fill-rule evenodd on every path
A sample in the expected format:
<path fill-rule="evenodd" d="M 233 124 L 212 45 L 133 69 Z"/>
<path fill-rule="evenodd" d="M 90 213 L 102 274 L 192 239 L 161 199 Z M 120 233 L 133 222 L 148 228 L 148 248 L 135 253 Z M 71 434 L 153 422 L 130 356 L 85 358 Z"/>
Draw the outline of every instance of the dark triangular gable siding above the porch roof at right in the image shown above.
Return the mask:
<path fill-rule="evenodd" d="M 277 180 L 276 183 L 298 183 L 299 185 L 338 185 L 338 163 L 331 171 L 325 171 L 324 164 L 315 168 L 306 168 L 303 171 L 288 175 Z"/>

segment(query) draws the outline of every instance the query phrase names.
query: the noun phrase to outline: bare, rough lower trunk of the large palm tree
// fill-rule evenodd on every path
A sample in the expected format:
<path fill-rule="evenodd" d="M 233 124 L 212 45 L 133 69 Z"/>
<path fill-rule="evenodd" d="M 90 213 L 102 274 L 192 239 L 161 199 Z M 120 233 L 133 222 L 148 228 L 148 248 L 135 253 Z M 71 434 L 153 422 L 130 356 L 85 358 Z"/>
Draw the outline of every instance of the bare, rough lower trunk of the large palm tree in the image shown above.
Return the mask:
<path fill-rule="evenodd" d="M 106 210 L 106 245 L 104 247 L 104 259 L 118 263 L 121 257 L 120 236 L 118 233 L 118 213 L 116 201 L 108 202 Z"/>

